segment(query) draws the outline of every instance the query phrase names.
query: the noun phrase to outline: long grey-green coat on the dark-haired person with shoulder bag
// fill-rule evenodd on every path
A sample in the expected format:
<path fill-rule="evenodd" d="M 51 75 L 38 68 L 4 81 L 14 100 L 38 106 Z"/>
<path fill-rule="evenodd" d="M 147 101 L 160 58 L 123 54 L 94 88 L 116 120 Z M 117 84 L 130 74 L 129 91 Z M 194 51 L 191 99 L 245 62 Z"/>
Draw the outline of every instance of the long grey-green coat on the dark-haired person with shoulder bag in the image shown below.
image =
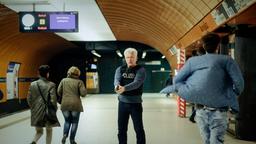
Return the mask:
<path fill-rule="evenodd" d="M 44 100 L 42 99 L 42 96 L 40 95 L 37 84 L 39 85 L 45 100 L 47 100 L 48 92 L 50 91 L 50 100 L 57 109 L 56 85 L 53 82 L 50 82 L 42 77 L 39 80 L 34 81 L 30 84 L 27 102 L 30 106 L 31 111 L 31 126 L 42 127 L 41 125 L 38 125 L 38 122 L 41 121 L 44 117 L 46 105 L 44 103 Z M 55 124 L 49 124 L 48 122 L 44 122 L 43 125 L 43 127 L 60 126 L 59 122 Z"/>

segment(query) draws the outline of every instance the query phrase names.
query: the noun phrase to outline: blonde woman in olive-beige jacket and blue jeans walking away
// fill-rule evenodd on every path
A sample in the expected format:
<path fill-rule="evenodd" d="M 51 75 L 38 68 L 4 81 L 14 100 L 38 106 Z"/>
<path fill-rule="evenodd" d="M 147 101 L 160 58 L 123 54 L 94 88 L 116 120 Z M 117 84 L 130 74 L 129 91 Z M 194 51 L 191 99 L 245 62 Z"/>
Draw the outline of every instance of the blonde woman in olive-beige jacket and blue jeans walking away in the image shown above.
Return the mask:
<path fill-rule="evenodd" d="M 70 144 L 76 144 L 75 136 L 80 112 L 83 112 L 80 96 L 84 97 L 86 95 L 84 83 L 79 79 L 80 73 L 77 67 L 70 67 L 67 72 L 67 78 L 62 79 L 58 86 L 58 95 L 62 97 L 61 111 L 65 119 L 62 144 L 65 144 L 69 132 Z"/>

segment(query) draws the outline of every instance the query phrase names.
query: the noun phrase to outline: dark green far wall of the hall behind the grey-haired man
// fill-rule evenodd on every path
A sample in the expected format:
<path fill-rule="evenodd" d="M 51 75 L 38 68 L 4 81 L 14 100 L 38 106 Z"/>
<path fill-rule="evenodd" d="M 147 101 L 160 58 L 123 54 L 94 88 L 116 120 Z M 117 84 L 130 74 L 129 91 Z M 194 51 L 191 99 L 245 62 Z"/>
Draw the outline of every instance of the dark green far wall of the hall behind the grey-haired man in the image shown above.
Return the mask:
<path fill-rule="evenodd" d="M 138 50 L 138 63 L 144 66 L 146 69 L 147 76 L 144 83 L 144 92 L 159 92 L 159 82 L 163 83 L 162 81 L 166 80 L 168 75 L 163 75 L 162 79 L 164 80 L 160 80 L 158 82 L 156 79 L 154 80 L 154 82 L 152 82 L 152 71 L 160 70 L 161 68 L 169 71 L 170 66 L 166 59 L 161 59 L 162 55 L 154 50 L 152 47 L 135 42 L 88 42 L 88 44 L 86 45 L 86 56 L 89 63 L 91 63 L 92 60 L 96 58 L 91 53 L 92 49 L 95 49 L 98 53 L 101 54 L 101 57 L 97 58 L 96 63 L 96 71 L 99 74 L 100 93 L 114 93 L 113 82 L 115 70 L 118 66 L 121 66 L 124 61 L 123 58 L 118 57 L 115 50 L 118 48 L 123 54 L 124 50 L 128 47 L 133 47 Z M 147 56 L 145 59 L 141 59 L 143 51 L 147 51 Z M 151 61 L 161 61 L 161 64 L 145 64 Z"/>

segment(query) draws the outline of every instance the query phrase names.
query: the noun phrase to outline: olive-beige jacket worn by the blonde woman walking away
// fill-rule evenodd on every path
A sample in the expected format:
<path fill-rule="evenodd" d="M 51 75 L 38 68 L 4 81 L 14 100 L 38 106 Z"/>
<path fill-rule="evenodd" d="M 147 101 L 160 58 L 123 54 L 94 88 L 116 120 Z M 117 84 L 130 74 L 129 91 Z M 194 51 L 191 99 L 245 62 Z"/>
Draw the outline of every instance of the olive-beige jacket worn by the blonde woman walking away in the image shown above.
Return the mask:
<path fill-rule="evenodd" d="M 86 96 L 86 89 L 82 80 L 71 77 L 64 78 L 61 80 L 57 92 L 59 96 L 62 96 L 62 111 L 83 111 L 80 96 Z"/>

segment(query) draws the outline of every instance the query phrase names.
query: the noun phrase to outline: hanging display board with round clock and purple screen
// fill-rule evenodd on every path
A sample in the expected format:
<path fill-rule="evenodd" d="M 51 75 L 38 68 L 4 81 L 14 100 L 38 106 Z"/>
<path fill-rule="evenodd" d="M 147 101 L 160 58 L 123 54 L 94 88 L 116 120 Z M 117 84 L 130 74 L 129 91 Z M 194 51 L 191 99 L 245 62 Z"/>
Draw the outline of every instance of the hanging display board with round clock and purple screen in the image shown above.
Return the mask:
<path fill-rule="evenodd" d="M 19 12 L 20 32 L 78 32 L 78 12 Z"/>

